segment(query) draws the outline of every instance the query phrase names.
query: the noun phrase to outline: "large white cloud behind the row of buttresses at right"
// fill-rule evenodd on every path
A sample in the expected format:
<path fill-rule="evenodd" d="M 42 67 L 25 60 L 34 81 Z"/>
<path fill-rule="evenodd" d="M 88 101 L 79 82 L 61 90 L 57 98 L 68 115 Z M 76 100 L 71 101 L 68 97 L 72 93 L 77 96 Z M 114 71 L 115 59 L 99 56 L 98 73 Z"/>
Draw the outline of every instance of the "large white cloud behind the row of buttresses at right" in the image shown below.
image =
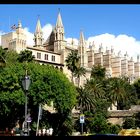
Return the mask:
<path fill-rule="evenodd" d="M 127 51 L 128 55 L 130 57 L 134 57 L 134 59 L 136 59 L 136 56 L 140 54 L 140 41 L 136 40 L 132 36 L 128 36 L 125 34 L 115 36 L 106 33 L 98 36 L 89 37 L 87 40 L 87 44 L 93 41 L 97 49 L 102 43 L 104 50 L 106 50 L 106 47 L 110 49 L 111 46 L 113 46 L 116 53 L 121 50 L 121 54 L 124 55 Z"/>

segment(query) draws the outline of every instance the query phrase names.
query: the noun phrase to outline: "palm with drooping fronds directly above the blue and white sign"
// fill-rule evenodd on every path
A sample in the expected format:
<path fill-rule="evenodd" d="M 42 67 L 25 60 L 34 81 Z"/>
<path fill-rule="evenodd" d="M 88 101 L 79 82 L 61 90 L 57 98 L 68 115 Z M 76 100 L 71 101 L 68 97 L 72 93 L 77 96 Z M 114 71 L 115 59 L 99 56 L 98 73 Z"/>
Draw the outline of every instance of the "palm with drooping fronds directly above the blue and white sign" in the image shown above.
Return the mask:
<path fill-rule="evenodd" d="M 94 108 L 95 100 L 93 94 L 83 87 L 77 87 L 77 92 L 78 106 L 80 107 L 81 113 L 84 113 L 84 111 L 90 111 Z"/>

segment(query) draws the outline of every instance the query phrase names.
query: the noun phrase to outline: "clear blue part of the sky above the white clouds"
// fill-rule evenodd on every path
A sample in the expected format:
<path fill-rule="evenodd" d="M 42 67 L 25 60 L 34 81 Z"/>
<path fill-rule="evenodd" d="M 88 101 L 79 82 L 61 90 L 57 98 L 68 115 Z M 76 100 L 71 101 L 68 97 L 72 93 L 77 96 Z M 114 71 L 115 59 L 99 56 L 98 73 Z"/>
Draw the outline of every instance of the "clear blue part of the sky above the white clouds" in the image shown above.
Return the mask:
<path fill-rule="evenodd" d="M 9 31 L 10 24 L 21 19 L 23 26 L 34 32 L 37 15 L 42 26 L 56 23 L 58 8 L 67 37 L 79 37 L 80 29 L 85 37 L 111 33 L 127 34 L 140 40 L 140 5 L 119 4 L 6 4 L 0 5 L 0 30 Z"/>

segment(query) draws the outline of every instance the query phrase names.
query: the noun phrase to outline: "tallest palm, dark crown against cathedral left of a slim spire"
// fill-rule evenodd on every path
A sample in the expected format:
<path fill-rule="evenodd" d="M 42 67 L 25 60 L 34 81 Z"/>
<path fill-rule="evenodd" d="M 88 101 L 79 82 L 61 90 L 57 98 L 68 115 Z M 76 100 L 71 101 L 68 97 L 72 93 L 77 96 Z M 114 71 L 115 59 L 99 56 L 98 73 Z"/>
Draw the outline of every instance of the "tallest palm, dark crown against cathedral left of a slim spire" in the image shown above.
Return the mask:
<path fill-rule="evenodd" d="M 78 56 L 78 51 L 74 50 L 69 53 L 68 57 L 66 58 L 66 66 L 71 71 L 71 81 L 73 82 L 74 72 L 77 69 L 77 66 L 79 65 L 80 56 Z M 73 82 L 74 83 L 74 82 Z"/>

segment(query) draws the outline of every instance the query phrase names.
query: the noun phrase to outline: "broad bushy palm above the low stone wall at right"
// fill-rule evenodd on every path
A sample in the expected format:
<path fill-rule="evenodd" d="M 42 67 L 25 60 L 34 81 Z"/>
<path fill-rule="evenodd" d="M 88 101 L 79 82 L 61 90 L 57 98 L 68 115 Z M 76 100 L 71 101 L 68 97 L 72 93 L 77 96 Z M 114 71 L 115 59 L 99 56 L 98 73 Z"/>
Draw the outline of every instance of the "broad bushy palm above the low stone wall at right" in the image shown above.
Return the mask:
<path fill-rule="evenodd" d="M 130 108 L 131 104 L 135 104 L 137 96 L 135 88 L 129 82 L 121 78 L 110 78 L 107 81 L 106 90 L 108 97 L 114 104 L 117 101 L 120 109 Z"/>

